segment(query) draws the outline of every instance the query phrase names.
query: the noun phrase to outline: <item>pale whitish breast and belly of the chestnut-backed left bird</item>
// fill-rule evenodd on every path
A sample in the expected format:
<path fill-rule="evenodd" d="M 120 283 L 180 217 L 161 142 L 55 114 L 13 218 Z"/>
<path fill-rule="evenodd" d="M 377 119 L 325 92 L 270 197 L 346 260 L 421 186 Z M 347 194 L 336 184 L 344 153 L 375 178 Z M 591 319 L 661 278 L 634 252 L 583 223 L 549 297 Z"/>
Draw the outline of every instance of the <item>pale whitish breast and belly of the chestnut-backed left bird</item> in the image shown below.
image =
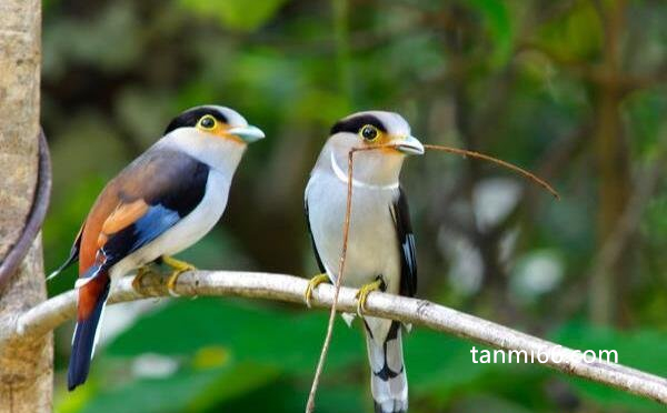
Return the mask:
<path fill-rule="evenodd" d="M 111 278 L 120 278 L 161 255 L 176 254 L 201 240 L 222 216 L 227 206 L 229 187 L 229 179 L 225 178 L 221 172 L 211 169 L 206 183 L 206 192 L 199 205 L 155 241 L 113 265 Z"/>

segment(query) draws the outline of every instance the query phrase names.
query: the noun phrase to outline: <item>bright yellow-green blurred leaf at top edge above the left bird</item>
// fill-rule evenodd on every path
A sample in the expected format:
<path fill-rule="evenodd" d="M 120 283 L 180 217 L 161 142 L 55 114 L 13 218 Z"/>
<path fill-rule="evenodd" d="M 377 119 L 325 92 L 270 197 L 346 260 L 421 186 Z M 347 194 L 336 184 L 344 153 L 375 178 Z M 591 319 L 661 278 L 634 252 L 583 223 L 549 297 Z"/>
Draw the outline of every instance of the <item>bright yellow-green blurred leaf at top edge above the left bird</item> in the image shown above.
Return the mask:
<path fill-rule="evenodd" d="M 201 17 L 240 31 L 252 31 L 266 23 L 287 0 L 179 0 L 179 4 Z"/>

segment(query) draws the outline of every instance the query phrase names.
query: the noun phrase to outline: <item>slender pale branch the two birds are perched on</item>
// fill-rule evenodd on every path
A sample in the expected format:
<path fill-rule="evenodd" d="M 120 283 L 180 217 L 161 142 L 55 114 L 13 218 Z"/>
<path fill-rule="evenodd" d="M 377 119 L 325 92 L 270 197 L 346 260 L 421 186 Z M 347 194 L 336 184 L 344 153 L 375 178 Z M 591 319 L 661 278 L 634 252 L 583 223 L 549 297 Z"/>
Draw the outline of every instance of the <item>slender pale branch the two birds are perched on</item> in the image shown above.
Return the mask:
<path fill-rule="evenodd" d="M 176 292 L 183 296 L 236 295 L 303 303 L 308 280 L 292 275 L 259 272 L 196 271 L 183 273 Z M 335 288 L 321 284 L 312 294 L 312 305 L 330 308 Z M 356 312 L 356 290 L 341 288 L 338 309 Z M 142 278 L 139 291 L 132 289 L 132 278 L 118 282 L 109 299 L 110 303 L 136 301 L 152 296 L 169 296 L 165 278 Z M 44 334 L 76 312 L 76 294 L 69 291 L 54 296 L 13 319 L 9 325 L 0 325 L 0 351 L 10 340 Z M 596 360 L 586 362 L 584 355 L 571 349 L 550 343 L 516 330 L 476 318 L 426 300 L 409 299 L 374 292 L 367 301 L 368 315 L 395 319 L 405 323 L 454 334 L 505 351 L 526 351 L 548 356 L 545 365 L 560 372 L 588 379 L 643 397 L 667 404 L 667 380 L 620 364 Z M 542 356 L 542 357 L 544 357 Z"/>

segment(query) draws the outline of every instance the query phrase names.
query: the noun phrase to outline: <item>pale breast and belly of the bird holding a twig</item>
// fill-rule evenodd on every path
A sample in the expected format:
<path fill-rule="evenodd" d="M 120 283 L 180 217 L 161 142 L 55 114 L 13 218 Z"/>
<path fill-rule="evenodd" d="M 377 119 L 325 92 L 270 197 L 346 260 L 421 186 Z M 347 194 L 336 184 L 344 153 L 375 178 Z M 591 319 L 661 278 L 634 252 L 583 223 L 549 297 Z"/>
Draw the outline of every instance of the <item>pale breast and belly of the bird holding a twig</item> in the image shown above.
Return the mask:
<path fill-rule="evenodd" d="M 387 291 L 398 293 L 400 261 L 390 208 L 396 190 L 355 188 L 344 284 L 358 288 L 382 274 Z M 310 229 L 317 251 L 334 280 L 342 248 L 347 185 L 318 173 L 307 188 Z"/>

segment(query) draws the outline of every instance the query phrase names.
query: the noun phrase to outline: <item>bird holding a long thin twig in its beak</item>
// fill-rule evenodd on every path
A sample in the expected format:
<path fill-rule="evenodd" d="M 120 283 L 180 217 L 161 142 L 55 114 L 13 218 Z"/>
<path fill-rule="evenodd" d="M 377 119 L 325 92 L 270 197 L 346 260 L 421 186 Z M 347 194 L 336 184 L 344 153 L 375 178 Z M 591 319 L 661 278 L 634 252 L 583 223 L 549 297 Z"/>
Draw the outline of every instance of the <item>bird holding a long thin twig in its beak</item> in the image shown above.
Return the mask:
<path fill-rule="evenodd" d="M 358 313 L 366 298 L 380 290 L 412 296 L 417 289 L 415 238 L 408 203 L 399 184 L 406 154 L 422 154 L 424 147 L 397 113 L 369 111 L 338 121 L 319 154 L 306 188 L 306 220 L 322 274 L 306 291 L 327 280 L 336 282 L 340 269 L 344 220 L 348 193 L 348 153 L 352 148 L 385 145 L 354 157 L 352 202 L 342 283 L 359 288 Z M 364 316 L 375 411 L 406 412 L 408 382 L 402 360 L 400 323 Z M 351 321 L 351 319 L 350 319 Z"/>

